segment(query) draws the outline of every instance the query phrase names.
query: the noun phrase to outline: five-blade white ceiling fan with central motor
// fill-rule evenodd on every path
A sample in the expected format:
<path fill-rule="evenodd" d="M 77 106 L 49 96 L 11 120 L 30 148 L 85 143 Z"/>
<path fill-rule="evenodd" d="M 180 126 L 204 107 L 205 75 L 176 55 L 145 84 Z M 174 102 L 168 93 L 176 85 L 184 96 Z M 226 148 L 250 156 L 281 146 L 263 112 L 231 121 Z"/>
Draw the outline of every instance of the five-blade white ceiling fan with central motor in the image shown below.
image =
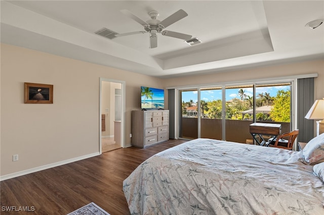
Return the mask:
<path fill-rule="evenodd" d="M 137 16 L 135 16 L 128 10 L 121 10 L 121 13 L 123 13 L 124 15 L 130 17 L 134 21 L 141 24 L 144 27 L 145 31 L 135 31 L 135 32 L 129 32 L 129 33 L 116 34 L 115 35 L 116 37 L 128 36 L 128 35 L 132 35 L 132 34 L 149 33 L 149 36 L 150 36 L 149 48 L 157 47 L 157 33 L 161 33 L 164 36 L 170 36 L 170 37 L 175 37 L 175 38 L 184 39 L 184 40 L 191 39 L 191 37 L 192 37 L 191 35 L 178 33 L 178 32 L 174 32 L 174 31 L 168 31 L 168 30 L 163 31 L 163 29 L 165 29 L 169 25 L 172 25 L 173 23 L 188 16 L 188 14 L 182 9 L 180 9 L 176 13 L 172 14 L 171 16 L 167 17 L 163 21 L 159 21 L 156 19 L 159 15 L 156 11 L 151 11 L 148 13 L 148 15 L 151 17 L 151 19 L 147 20 L 146 22 L 141 20 L 140 18 L 138 18 Z"/>

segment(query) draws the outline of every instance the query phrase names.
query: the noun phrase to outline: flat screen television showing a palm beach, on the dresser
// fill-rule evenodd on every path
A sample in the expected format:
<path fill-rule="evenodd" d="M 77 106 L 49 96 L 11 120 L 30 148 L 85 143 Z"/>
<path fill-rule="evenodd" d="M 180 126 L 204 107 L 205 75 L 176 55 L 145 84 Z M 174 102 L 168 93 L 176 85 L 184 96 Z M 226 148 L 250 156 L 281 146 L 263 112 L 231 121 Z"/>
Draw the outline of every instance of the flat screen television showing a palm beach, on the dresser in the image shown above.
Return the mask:
<path fill-rule="evenodd" d="M 141 109 L 164 109 L 164 89 L 141 86 Z"/>

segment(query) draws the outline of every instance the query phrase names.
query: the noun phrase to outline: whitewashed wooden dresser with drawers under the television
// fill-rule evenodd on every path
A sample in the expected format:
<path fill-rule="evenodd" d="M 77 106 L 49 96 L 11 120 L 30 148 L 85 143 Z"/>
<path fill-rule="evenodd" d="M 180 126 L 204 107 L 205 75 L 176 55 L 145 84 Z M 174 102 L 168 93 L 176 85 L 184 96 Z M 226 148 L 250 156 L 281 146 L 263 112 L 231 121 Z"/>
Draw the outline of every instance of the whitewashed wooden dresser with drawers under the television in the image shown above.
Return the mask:
<path fill-rule="evenodd" d="M 133 111 L 132 145 L 147 146 L 169 140 L 169 111 Z"/>

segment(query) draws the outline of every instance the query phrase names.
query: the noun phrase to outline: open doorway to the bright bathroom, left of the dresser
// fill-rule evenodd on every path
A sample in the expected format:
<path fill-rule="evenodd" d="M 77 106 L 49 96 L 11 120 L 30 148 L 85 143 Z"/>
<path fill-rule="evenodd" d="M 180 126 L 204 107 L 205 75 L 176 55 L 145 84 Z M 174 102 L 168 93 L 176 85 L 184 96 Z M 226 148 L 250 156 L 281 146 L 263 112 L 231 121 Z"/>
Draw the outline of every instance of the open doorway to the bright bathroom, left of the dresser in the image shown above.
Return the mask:
<path fill-rule="evenodd" d="M 124 81 L 100 78 L 100 152 L 124 147 Z"/>

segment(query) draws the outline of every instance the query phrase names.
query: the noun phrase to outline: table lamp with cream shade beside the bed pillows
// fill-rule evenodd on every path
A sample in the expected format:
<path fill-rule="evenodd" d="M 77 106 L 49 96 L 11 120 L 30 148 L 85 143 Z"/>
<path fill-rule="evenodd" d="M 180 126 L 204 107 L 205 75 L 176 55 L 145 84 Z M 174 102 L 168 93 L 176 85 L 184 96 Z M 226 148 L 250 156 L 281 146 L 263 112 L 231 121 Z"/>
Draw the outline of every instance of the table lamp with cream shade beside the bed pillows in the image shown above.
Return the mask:
<path fill-rule="evenodd" d="M 316 122 L 316 135 L 324 133 L 324 98 L 313 103 L 305 118 L 308 120 L 320 120 Z"/>

